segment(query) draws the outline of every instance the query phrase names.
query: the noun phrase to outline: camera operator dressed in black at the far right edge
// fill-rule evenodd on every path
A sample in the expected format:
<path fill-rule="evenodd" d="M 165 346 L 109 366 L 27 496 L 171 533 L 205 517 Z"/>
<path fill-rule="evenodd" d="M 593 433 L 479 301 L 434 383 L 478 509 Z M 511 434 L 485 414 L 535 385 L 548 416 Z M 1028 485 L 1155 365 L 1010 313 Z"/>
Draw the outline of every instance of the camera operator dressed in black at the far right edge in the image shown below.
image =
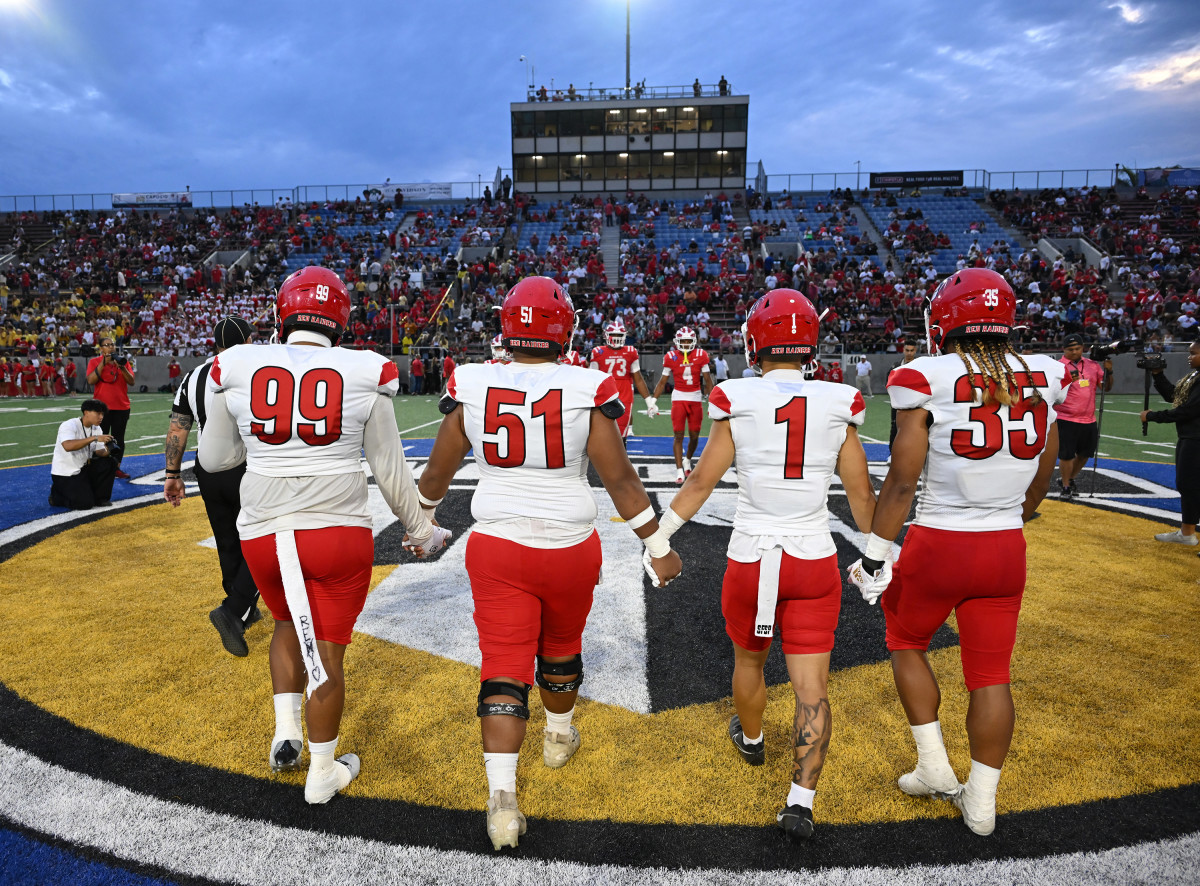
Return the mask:
<path fill-rule="evenodd" d="M 1195 545 L 1196 522 L 1200 521 L 1200 342 L 1192 342 L 1188 348 L 1188 366 L 1192 371 L 1171 384 L 1163 375 L 1162 359 L 1151 363 L 1146 369 L 1153 376 L 1154 389 L 1163 400 L 1171 403 L 1170 409 L 1145 409 L 1142 421 L 1171 421 L 1180 439 L 1175 444 L 1175 489 L 1180 491 L 1180 528 L 1175 532 L 1162 532 L 1154 535 L 1159 541 L 1177 545 Z"/>

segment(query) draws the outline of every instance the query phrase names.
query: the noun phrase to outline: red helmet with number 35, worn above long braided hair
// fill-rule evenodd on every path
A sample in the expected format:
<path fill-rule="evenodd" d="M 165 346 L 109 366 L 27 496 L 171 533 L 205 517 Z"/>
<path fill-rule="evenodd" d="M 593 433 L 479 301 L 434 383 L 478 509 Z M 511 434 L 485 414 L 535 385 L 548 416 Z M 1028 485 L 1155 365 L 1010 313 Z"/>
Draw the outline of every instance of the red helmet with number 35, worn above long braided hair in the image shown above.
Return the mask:
<path fill-rule="evenodd" d="M 958 337 L 1008 339 L 1016 321 L 1016 297 L 1003 276 L 966 268 L 942 281 L 925 307 L 929 353 L 940 354 Z"/>

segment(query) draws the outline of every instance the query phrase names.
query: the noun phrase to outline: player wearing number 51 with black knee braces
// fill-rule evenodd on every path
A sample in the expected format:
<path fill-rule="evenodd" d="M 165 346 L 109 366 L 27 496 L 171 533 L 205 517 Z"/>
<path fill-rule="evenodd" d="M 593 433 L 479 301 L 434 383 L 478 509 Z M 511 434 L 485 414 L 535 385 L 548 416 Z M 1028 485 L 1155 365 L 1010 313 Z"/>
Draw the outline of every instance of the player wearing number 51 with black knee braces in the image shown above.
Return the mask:
<path fill-rule="evenodd" d="M 421 503 L 432 516 L 474 450 L 479 486 L 467 575 L 482 653 L 478 713 L 487 836 L 497 850 L 516 846 L 526 832 L 516 773 L 533 683 L 546 711 L 545 765 L 565 766 L 580 747 L 571 719 L 583 681 L 583 625 L 600 577 L 589 462 L 617 513 L 646 543 L 655 585 L 680 570 L 617 432 L 613 419 L 624 407 L 616 383 L 602 372 L 556 363 L 574 325 L 571 300 L 550 277 L 514 286 L 500 310 L 512 363 L 503 370 L 458 367 L 421 474 Z"/>

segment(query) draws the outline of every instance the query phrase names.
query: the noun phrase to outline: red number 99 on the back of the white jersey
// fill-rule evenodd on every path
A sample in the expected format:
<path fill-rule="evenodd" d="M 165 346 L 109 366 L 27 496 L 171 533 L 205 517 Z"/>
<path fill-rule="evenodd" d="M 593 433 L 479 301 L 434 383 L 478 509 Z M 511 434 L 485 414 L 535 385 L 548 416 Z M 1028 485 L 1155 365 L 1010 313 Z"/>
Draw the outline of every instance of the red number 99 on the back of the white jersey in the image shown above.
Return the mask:
<path fill-rule="evenodd" d="M 264 366 L 250 382 L 250 432 L 278 447 L 295 431 L 311 447 L 328 447 L 342 436 L 342 376 L 331 369 L 295 377 L 282 366 Z"/>

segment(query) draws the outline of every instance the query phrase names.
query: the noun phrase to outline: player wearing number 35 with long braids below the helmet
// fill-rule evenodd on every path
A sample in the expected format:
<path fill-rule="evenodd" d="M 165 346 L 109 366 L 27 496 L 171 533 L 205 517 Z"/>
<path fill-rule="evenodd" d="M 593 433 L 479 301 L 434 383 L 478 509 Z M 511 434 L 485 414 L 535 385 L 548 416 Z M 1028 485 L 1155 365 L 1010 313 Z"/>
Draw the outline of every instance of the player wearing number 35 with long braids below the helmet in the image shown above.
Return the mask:
<path fill-rule="evenodd" d="M 968 268 L 937 287 L 925 311 L 930 355 L 896 367 L 892 467 L 863 558 L 850 568 L 864 599 L 882 593 L 892 671 L 917 744 L 899 779 L 918 797 L 948 797 L 977 834 L 996 826 L 996 788 L 1013 738 L 1009 661 L 1025 592 L 1024 521 L 1045 497 L 1058 453 L 1055 407 L 1066 367 L 1009 345 L 1016 298 L 1008 281 Z M 892 571 L 892 545 L 917 514 Z M 971 702 L 971 776 L 960 785 L 942 743 L 941 692 L 926 651 L 958 616 Z"/>

